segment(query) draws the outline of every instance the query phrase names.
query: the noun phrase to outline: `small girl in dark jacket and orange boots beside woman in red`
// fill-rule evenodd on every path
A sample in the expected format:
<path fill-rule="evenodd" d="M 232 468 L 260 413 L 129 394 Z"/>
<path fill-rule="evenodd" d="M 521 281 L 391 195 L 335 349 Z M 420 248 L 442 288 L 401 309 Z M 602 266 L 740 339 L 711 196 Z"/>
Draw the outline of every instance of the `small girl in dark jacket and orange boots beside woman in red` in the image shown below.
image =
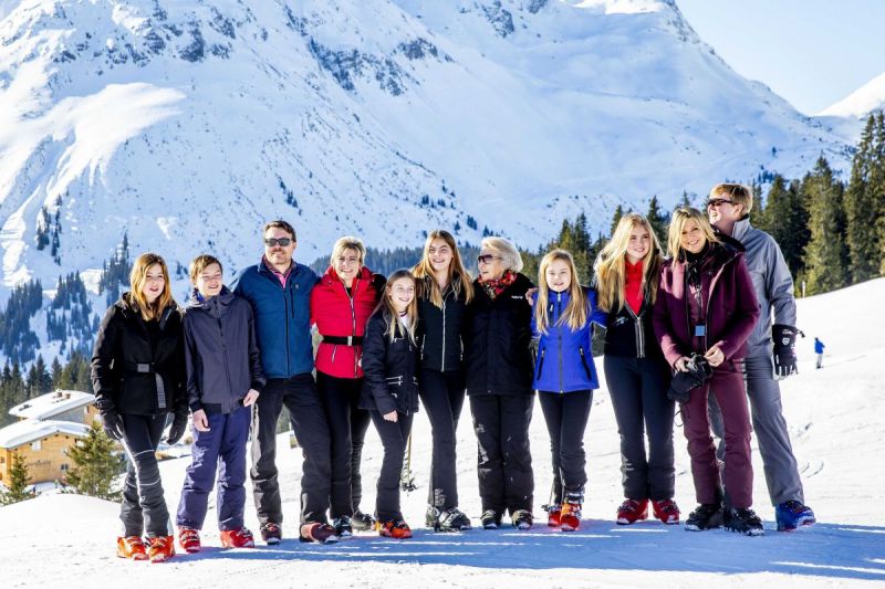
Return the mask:
<path fill-rule="evenodd" d="M 415 330 L 418 305 L 415 278 L 407 270 L 391 274 L 384 295 L 366 325 L 363 339 L 365 382 L 360 407 L 369 411 L 384 445 L 375 516 L 382 536 L 410 538 L 399 511 L 399 471 L 418 410 L 418 353 Z"/>

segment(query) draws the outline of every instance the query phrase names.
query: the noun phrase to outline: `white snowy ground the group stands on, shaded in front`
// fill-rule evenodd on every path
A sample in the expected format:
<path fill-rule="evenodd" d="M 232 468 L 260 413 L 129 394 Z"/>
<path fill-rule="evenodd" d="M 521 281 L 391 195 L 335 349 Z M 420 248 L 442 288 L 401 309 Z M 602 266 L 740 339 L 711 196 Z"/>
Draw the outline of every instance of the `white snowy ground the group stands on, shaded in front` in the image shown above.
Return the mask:
<path fill-rule="evenodd" d="M 415 420 L 414 471 L 418 491 L 404 495 L 404 514 L 417 529 L 412 540 L 361 535 L 321 547 L 291 539 L 298 520 L 300 457 L 281 451 L 279 466 L 285 513 L 285 539 L 278 548 L 220 551 L 210 506 L 205 529 L 209 546 L 198 556 L 166 565 L 128 562 L 113 555 L 117 506 L 70 495 L 44 495 L 0 508 L 0 546 L 7 587 L 94 587 L 107 579 L 126 586 L 227 587 L 259 582 L 273 587 L 842 587 L 885 581 L 885 424 L 881 386 L 885 315 L 866 314 L 885 296 L 885 280 L 872 281 L 799 302 L 800 374 L 783 382 L 805 496 L 819 524 L 793 534 L 778 533 L 768 505 L 762 465 L 754 452 L 756 508 L 767 535 L 737 536 L 722 530 L 688 533 L 646 522 L 616 526 L 621 496 L 617 431 L 605 386 L 597 392 L 585 437 L 589 450 L 587 522 L 566 534 L 538 526 L 440 535 L 419 528 L 426 501 L 429 427 Z M 824 369 L 815 370 L 811 341 L 827 346 Z M 678 417 L 677 417 L 678 423 Z M 535 515 L 551 482 L 549 441 L 540 410 L 531 425 L 535 472 Z M 476 441 L 465 410 L 459 430 L 458 476 L 461 507 L 478 517 Z M 285 437 L 280 438 L 285 443 Z M 677 502 L 687 513 L 693 487 L 681 430 L 676 430 Z M 284 448 L 284 445 L 283 445 Z M 372 481 L 381 444 L 369 432 L 364 457 L 363 506 L 371 508 Z M 177 505 L 187 459 L 163 463 L 167 502 Z M 247 523 L 256 526 L 247 505 Z"/>

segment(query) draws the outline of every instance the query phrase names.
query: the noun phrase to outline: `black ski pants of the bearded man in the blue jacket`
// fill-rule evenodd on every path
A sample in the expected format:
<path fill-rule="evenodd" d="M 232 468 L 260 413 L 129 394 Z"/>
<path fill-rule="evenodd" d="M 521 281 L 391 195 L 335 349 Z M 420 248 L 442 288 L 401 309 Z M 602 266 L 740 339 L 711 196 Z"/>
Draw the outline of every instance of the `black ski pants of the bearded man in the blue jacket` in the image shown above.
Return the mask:
<path fill-rule="evenodd" d="M 325 523 L 332 494 L 332 441 L 313 375 L 272 378 L 252 410 L 252 494 L 262 524 L 283 523 L 277 470 L 277 421 L 283 406 L 302 449 L 301 523 Z"/>

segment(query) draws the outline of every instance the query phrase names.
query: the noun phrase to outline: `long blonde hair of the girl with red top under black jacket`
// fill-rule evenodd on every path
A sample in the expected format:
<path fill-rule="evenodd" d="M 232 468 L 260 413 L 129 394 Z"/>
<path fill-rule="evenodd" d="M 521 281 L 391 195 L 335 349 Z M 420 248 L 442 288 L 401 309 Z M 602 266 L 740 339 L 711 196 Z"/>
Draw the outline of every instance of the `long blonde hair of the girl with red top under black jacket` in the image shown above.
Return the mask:
<path fill-rule="evenodd" d="M 612 233 L 612 239 L 605 244 L 596 259 L 596 303 L 606 313 L 617 313 L 624 308 L 626 290 L 626 263 L 629 234 L 636 225 L 642 225 L 652 238 L 652 246 L 643 257 L 643 284 L 641 286 L 643 298 L 650 305 L 657 297 L 658 273 L 663 254 L 660 242 L 652 228 L 648 219 L 642 214 L 631 212 L 621 218 Z"/>

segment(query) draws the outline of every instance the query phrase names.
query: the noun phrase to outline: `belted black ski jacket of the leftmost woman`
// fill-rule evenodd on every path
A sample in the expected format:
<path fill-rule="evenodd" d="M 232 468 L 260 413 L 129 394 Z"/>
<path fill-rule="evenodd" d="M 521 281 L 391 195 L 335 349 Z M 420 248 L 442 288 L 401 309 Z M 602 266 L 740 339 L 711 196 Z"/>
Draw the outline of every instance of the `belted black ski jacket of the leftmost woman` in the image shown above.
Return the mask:
<path fill-rule="evenodd" d="M 166 307 L 152 345 L 147 323 L 124 293 L 105 313 L 92 353 L 98 411 L 135 416 L 187 412 L 181 312 Z"/>

